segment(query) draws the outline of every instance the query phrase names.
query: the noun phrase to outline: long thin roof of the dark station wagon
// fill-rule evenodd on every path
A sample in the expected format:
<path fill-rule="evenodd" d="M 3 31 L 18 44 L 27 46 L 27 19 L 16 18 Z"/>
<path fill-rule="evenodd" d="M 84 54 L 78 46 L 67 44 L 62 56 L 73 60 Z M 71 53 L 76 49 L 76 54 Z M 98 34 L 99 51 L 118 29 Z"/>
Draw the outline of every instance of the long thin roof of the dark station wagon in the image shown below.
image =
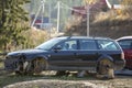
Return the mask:
<path fill-rule="evenodd" d="M 58 36 L 58 37 L 66 37 L 66 38 L 89 38 L 89 40 L 111 40 L 109 37 L 98 37 L 98 36 Z"/>

